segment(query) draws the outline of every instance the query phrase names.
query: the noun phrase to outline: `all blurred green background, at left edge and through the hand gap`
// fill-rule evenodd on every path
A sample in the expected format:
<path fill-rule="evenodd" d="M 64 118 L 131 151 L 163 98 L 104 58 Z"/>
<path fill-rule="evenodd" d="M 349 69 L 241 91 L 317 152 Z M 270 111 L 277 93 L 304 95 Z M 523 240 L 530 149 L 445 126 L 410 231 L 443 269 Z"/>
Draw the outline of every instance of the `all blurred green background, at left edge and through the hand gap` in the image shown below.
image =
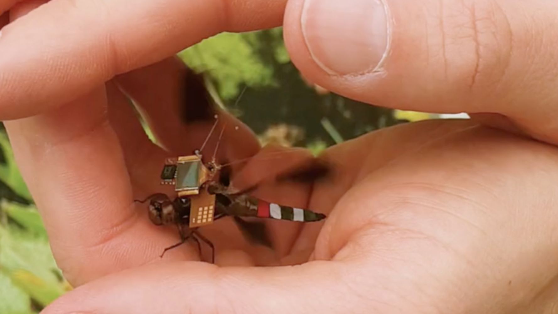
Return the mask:
<path fill-rule="evenodd" d="M 330 93 L 290 62 L 282 29 L 224 33 L 182 51 L 207 74 L 208 89 L 258 135 L 262 145 L 302 146 L 318 155 L 367 132 L 440 117 L 393 111 Z M 56 267 L 41 218 L 0 128 L 0 314 L 37 313 L 71 289 Z"/>

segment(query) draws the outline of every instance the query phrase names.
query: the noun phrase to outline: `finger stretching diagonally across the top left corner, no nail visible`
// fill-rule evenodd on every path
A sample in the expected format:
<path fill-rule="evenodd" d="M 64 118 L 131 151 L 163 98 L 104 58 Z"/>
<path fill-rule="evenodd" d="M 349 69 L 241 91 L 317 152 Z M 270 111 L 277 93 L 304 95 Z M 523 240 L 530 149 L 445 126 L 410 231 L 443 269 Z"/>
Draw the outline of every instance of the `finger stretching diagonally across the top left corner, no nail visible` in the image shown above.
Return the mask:
<path fill-rule="evenodd" d="M 285 3 L 51 1 L 4 27 L 0 118 L 44 112 L 222 31 L 280 25 Z"/>

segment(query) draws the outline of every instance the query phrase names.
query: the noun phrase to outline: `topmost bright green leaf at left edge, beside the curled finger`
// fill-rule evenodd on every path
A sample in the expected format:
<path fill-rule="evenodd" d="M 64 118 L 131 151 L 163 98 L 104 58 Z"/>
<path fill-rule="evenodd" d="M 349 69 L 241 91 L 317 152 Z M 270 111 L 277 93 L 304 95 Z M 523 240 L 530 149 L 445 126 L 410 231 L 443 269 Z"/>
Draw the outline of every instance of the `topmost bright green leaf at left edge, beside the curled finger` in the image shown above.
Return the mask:
<path fill-rule="evenodd" d="M 31 193 L 21 177 L 20 170 L 17 168 L 8 135 L 3 131 L 0 132 L 0 148 L 6 160 L 5 164 L 0 163 L 0 179 L 19 196 L 31 201 Z"/>

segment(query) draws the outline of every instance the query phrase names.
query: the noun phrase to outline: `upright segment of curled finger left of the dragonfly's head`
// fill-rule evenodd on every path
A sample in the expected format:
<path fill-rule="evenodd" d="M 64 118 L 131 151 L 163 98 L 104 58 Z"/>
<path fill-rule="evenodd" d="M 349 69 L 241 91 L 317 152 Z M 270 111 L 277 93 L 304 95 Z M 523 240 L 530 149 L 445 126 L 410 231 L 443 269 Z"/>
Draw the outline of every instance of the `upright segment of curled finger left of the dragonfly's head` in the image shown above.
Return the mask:
<path fill-rule="evenodd" d="M 6 122 L 23 178 L 64 270 L 69 260 L 85 260 L 85 251 L 100 248 L 131 226 L 127 222 L 136 221 L 122 150 L 105 108 L 104 88 L 99 88 L 54 112 Z M 103 257 L 118 264 L 118 256 Z M 98 266 L 88 265 L 88 272 Z M 79 268 L 70 270 L 71 279 L 74 271 L 85 269 Z"/>

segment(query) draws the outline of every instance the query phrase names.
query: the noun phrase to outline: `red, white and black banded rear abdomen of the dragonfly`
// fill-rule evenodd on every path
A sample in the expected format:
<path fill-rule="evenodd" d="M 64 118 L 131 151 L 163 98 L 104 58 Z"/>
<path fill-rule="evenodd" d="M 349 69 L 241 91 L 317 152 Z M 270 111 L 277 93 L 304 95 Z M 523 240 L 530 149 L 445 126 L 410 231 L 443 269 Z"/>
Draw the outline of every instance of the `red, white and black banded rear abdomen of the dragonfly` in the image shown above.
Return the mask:
<path fill-rule="evenodd" d="M 283 206 L 258 199 L 257 217 L 273 218 L 278 220 L 311 222 L 325 218 L 323 213 L 316 213 L 302 208 Z"/>

